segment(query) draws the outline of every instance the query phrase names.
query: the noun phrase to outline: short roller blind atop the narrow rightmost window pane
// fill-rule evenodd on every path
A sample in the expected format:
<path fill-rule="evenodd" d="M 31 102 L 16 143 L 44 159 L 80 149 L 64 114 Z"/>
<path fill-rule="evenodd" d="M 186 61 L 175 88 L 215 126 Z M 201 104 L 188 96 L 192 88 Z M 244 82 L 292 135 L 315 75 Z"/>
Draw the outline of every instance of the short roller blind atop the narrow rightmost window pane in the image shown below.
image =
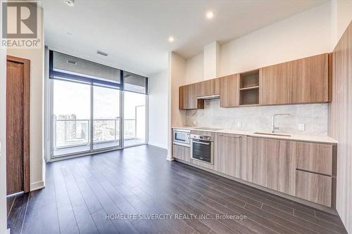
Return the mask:
<path fill-rule="evenodd" d="M 148 94 L 148 78 L 131 72 L 123 72 L 125 91 Z"/>

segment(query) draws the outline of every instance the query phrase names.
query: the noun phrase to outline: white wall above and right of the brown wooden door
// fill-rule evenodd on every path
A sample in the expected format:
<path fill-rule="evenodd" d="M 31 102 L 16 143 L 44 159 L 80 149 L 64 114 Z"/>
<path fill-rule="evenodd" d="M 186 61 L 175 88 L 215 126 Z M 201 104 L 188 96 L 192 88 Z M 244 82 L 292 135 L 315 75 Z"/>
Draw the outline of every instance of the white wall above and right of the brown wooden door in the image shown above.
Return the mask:
<path fill-rule="evenodd" d="M 42 13 L 42 11 L 39 11 L 39 12 Z M 42 36 L 42 38 L 44 37 Z M 26 58 L 30 60 L 30 190 L 36 190 L 44 186 L 44 160 L 43 160 L 43 155 L 44 155 L 44 152 L 43 152 L 44 43 L 43 43 L 43 40 L 41 41 L 41 44 L 42 44 L 41 48 L 12 48 L 7 50 L 7 54 L 9 56 Z"/>

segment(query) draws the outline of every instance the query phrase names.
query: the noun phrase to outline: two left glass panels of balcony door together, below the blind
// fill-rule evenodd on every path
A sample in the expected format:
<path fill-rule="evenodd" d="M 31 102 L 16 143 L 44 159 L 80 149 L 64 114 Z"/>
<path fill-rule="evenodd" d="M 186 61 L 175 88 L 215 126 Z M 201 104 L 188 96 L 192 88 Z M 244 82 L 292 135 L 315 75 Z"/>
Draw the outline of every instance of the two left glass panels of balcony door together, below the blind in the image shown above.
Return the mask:
<path fill-rule="evenodd" d="M 121 147 L 120 90 L 53 80 L 53 157 Z"/>

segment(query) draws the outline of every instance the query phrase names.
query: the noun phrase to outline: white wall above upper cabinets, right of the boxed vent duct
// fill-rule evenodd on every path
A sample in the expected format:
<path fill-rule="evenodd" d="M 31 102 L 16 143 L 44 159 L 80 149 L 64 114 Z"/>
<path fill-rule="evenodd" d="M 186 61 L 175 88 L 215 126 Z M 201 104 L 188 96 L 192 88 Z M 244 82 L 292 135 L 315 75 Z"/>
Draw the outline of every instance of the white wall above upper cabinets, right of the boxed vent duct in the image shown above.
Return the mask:
<path fill-rule="evenodd" d="M 328 1 L 222 44 L 219 76 L 331 52 L 330 26 Z"/>

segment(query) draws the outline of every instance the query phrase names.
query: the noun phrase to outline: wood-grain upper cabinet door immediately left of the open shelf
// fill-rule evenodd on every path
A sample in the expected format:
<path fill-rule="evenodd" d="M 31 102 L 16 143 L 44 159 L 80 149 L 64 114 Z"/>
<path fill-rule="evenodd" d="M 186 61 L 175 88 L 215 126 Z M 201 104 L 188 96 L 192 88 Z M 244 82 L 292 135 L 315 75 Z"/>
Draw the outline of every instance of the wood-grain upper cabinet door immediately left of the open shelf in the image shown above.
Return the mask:
<path fill-rule="evenodd" d="M 239 106 L 239 74 L 220 78 L 220 107 Z"/>

